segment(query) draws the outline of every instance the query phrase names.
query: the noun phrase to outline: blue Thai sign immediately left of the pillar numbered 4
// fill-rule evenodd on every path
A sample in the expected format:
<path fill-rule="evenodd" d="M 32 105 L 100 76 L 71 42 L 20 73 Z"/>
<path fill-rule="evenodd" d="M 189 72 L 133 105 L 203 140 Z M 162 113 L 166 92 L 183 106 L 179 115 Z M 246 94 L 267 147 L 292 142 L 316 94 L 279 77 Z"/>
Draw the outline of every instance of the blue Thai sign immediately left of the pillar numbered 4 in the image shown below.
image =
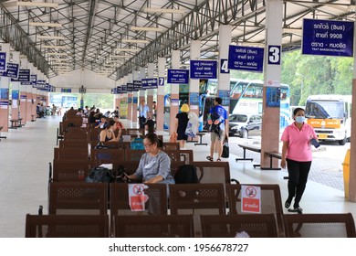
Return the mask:
<path fill-rule="evenodd" d="M 216 79 L 217 61 L 216 60 L 191 60 L 190 65 L 191 79 Z"/>

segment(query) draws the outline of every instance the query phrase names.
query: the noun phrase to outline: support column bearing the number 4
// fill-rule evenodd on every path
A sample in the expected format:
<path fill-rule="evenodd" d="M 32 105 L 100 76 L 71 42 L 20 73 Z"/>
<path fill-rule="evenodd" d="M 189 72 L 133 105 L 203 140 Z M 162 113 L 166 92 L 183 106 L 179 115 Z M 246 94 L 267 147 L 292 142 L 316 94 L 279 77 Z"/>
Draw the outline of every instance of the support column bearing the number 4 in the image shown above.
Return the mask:
<path fill-rule="evenodd" d="M 217 96 L 223 99 L 222 106 L 225 108 L 227 115 L 230 113 L 230 71 L 221 69 L 221 63 L 228 59 L 229 45 L 231 44 L 232 27 L 222 25 L 219 27 L 219 61 L 218 61 L 218 91 Z M 228 135 L 228 120 L 225 120 L 225 134 Z"/>

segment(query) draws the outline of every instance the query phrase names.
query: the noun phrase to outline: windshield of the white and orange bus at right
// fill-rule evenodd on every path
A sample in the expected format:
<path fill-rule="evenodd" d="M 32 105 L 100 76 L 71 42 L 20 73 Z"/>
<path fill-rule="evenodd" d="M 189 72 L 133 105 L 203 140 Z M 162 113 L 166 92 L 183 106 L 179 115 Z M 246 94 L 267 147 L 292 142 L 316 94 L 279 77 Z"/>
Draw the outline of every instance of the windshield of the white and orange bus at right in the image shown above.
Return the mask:
<path fill-rule="evenodd" d="M 341 101 L 309 101 L 306 105 L 307 118 L 343 118 L 343 103 Z"/>

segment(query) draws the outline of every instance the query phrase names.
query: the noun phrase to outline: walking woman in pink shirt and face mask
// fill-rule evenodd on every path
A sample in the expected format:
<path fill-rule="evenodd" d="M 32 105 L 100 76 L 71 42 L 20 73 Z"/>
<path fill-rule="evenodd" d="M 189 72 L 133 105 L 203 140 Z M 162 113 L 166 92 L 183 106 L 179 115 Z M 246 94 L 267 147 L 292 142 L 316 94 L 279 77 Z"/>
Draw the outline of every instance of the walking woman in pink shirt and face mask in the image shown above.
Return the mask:
<path fill-rule="evenodd" d="M 310 140 L 318 141 L 314 129 L 305 123 L 305 112 L 296 108 L 293 112 L 295 122 L 288 125 L 282 134 L 282 160 L 280 166 L 288 167 L 288 198 L 285 208 L 289 208 L 294 197 L 293 208 L 301 212 L 299 202 L 307 184 L 312 155 Z"/>

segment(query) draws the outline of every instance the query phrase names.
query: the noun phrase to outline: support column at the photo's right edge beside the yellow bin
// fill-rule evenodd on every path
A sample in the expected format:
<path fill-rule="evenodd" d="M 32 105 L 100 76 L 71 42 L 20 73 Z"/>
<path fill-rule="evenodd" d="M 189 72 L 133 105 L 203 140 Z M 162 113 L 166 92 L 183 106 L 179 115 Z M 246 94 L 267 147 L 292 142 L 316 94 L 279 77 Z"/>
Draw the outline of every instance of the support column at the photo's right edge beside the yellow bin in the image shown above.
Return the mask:
<path fill-rule="evenodd" d="M 356 22 L 355 22 L 356 23 Z M 353 33 L 353 48 L 356 47 L 356 24 Z M 356 57 L 353 57 L 353 77 L 352 77 L 352 110 L 351 110 L 351 134 L 356 134 Z M 351 140 L 350 144 L 350 180 L 349 180 L 349 200 L 356 202 L 356 143 Z"/>

